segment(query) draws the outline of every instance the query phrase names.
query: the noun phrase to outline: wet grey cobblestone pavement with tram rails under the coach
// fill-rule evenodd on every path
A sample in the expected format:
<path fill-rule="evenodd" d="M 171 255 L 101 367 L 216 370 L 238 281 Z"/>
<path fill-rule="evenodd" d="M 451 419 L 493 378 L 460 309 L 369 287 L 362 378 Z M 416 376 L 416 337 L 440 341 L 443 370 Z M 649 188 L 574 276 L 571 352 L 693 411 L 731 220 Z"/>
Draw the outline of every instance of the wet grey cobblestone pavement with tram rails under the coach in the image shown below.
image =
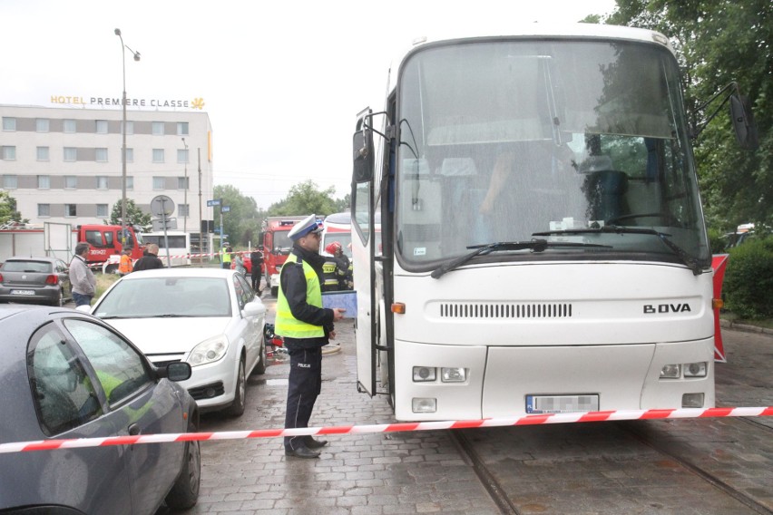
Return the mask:
<path fill-rule="evenodd" d="M 272 311 L 273 299 L 264 300 Z M 357 393 L 353 327 L 337 329 L 340 350 L 323 359 L 310 425 L 394 422 L 385 397 Z M 725 335 L 729 363 L 717 364 L 718 405 L 773 405 L 773 338 Z M 253 375 L 244 415 L 207 414 L 201 431 L 281 428 L 288 372 L 288 362 L 277 360 Z M 773 443 L 761 421 L 651 421 L 631 423 L 633 433 L 625 423 L 589 423 L 463 434 L 521 513 L 753 513 L 646 441 L 665 442 L 773 510 Z M 279 438 L 202 442 L 201 496 L 187 513 L 501 512 L 449 432 L 326 438 L 318 460 L 286 457 Z"/>

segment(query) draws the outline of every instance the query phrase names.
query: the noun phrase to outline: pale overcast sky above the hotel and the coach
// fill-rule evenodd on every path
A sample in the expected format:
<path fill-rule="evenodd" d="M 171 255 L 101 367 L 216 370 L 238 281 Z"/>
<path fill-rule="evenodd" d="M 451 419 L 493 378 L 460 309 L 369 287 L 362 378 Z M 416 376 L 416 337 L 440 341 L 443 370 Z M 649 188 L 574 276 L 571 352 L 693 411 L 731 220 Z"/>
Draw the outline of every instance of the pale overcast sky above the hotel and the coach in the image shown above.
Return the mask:
<path fill-rule="evenodd" d="M 0 103 L 120 98 L 119 27 L 142 53 L 139 63 L 127 53 L 129 98 L 203 98 L 215 184 L 234 185 L 263 209 L 308 179 L 341 198 L 355 115 L 383 106 L 390 60 L 416 37 L 572 23 L 613 8 L 614 0 L 0 0 Z"/>

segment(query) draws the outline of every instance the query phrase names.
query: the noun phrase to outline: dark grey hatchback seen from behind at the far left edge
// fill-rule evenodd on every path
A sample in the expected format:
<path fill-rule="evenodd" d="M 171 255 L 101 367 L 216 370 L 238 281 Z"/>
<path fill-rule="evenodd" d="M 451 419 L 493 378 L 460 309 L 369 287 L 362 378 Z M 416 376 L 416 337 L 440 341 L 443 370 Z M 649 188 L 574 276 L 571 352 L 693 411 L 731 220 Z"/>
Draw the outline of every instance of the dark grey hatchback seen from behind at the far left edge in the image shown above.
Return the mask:
<path fill-rule="evenodd" d="M 56 257 L 11 257 L 0 267 L 0 302 L 63 306 L 72 296 L 70 271 Z"/>

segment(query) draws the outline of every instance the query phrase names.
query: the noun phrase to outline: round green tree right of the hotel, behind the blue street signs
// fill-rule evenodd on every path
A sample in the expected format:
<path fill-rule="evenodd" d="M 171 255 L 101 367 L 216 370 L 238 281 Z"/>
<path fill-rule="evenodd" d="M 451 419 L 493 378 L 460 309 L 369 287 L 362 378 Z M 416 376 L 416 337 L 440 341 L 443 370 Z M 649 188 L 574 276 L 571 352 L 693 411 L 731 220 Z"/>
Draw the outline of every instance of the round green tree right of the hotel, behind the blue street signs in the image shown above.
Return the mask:
<path fill-rule="evenodd" d="M 255 247 L 260 232 L 260 223 L 266 218 L 266 212 L 258 209 L 255 199 L 244 196 L 241 191 L 231 185 L 215 186 L 213 199 L 222 199 L 223 206 L 230 210 L 223 213 L 223 231 L 228 235 L 231 246 L 248 244 Z M 215 226 L 220 227 L 220 212 L 215 208 Z M 215 240 L 215 246 L 220 244 Z"/>

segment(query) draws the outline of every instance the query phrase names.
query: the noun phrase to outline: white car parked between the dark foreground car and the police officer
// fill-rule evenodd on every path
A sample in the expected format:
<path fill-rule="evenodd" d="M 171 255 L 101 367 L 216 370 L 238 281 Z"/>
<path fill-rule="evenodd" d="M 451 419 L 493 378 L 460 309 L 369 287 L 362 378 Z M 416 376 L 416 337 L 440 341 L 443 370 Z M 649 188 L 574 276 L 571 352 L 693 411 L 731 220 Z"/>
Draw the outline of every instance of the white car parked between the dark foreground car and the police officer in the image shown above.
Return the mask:
<path fill-rule="evenodd" d="M 161 268 L 122 277 L 91 309 L 159 367 L 182 361 L 180 384 L 201 411 L 244 413 L 246 380 L 266 371 L 266 306 L 234 270 Z"/>

